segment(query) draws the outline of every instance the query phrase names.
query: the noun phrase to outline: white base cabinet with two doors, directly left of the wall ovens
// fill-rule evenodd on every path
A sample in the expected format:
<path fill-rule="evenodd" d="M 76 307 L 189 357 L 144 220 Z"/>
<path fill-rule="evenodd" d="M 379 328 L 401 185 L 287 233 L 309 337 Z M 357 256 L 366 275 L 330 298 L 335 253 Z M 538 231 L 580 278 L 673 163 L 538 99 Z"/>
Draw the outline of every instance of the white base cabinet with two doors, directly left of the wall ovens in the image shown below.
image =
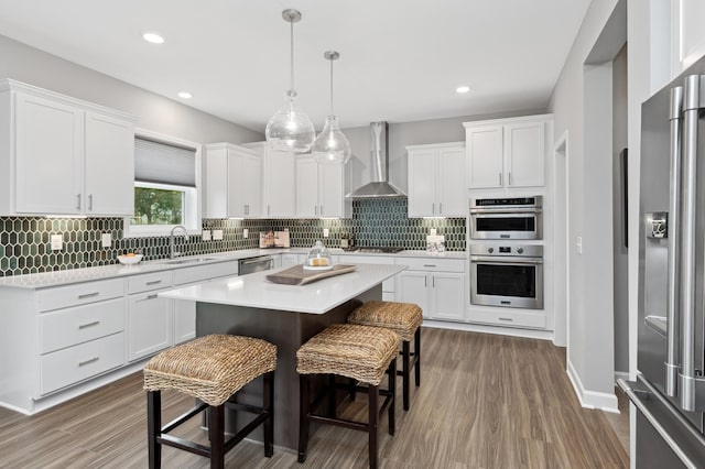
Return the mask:
<path fill-rule="evenodd" d="M 465 319 L 465 261 L 397 258 L 408 270 L 397 275 L 397 298 L 415 303 L 429 319 Z"/>

